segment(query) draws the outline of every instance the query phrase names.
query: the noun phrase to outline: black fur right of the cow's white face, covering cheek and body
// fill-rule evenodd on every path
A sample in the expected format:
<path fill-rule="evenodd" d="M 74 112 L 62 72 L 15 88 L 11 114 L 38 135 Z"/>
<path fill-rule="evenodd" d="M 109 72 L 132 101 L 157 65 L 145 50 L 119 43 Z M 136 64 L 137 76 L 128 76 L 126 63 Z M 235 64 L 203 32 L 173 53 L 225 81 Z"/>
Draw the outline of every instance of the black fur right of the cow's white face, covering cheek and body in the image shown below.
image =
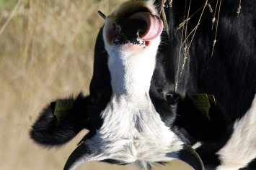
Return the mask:
<path fill-rule="evenodd" d="M 200 9 L 205 2 L 192 1 L 190 15 Z M 210 2 L 214 10 L 216 1 Z M 183 133 L 190 143 L 201 141 L 203 145 L 197 149 L 197 152 L 206 169 L 216 169 L 220 164 L 216 152 L 229 140 L 234 122 L 244 116 L 256 93 L 256 5 L 250 0 L 242 1 L 242 11 L 238 16 L 239 1 L 222 1 L 214 49 L 216 22 L 211 30 L 213 16 L 206 6 L 203 20 L 198 26 L 194 39 L 193 36 L 187 39 L 187 46 L 191 41 L 192 44 L 180 76 L 184 49 L 182 48 L 179 62 L 182 28 L 177 28 L 183 22 L 184 11 L 187 16 L 188 4 L 189 1 L 185 9 L 185 1 L 173 1 L 172 8 L 165 9 L 169 25 L 169 41 L 163 33 L 164 43 L 159 46 L 160 57 L 152 78 L 151 97 L 156 108 L 167 111 L 168 107 L 160 102 L 164 101 L 162 90 L 167 88 L 168 91 L 175 92 L 174 81 L 177 80 L 178 75 L 176 93 L 181 94 L 182 98 L 177 103 L 175 123 L 171 125 L 180 128 L 180 133 Z M 202 9 L 189 20 L 187 34 L 197 26 Z M 178 63 L 180 63 L 179 72 Z M 170 75 L 171 78 L 168 78 Z M 210 101 L 211 121 L 195 108 L 191 100 L 191 95 L 200 93 L 214 95 L 216 98 L 216 105 Z M 161 111 L 159 113 L 161 115 Z M 168 117 L 169 112 L 164 115 Z M 170 116 L 172 115 L 173 113 Z M 253 169 L 256 166 L 250 164 L 249 167 L 248 169 Z"/>

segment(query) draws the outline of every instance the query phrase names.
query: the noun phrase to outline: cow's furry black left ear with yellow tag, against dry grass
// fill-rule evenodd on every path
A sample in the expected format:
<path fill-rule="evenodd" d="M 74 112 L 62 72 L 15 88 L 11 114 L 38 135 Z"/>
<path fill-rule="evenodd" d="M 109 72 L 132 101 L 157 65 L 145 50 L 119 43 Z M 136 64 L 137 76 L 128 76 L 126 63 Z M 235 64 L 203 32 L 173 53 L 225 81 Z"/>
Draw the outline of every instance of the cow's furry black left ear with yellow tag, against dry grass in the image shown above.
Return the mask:
<path fill-rule="evenodd" d="M 61 146 L 83 128 L 90 128 L 89 96 L 55 100 L 43 108 L 32 125 L 30 138 L 44 147 Z"/>

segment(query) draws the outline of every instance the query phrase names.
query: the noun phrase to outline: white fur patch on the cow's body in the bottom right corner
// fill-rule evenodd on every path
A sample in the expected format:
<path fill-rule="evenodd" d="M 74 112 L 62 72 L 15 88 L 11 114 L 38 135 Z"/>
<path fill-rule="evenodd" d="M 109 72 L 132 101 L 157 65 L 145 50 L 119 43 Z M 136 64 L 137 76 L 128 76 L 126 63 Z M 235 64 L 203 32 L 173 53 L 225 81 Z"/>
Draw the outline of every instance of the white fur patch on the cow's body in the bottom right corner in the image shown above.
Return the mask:
<path fill-rule="evenodd" d="M 234 133 L 217 154 L 221 160 L 217 170 L 237 170 L 256 158 L 256 95 L 251 108 L 234 123 Z"/>

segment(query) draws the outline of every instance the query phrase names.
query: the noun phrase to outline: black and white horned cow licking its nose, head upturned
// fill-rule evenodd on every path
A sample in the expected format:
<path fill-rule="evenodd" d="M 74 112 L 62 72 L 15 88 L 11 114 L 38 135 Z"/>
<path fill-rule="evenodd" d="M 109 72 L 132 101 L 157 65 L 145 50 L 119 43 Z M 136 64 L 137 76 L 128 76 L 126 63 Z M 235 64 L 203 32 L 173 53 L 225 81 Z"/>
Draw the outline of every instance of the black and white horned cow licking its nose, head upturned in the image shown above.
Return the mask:
<path fill-rule="evenodd" d="M 30 136 L 53 147 L 88 129 L 64 169 L 173 159 L 256 169 L 255 54 L 255 1 L 126 2 L 98 34 L 90 95 L 66 98 L 63 118 L 59 100 L 47 105 Z"/>

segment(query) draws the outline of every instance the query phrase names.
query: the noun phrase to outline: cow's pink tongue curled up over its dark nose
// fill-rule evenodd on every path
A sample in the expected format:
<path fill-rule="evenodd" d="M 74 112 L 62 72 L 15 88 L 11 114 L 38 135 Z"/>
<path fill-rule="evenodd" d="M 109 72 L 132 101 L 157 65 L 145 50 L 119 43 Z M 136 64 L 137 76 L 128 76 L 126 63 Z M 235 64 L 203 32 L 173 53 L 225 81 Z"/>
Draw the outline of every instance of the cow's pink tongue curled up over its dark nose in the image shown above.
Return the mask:
<path fill-rule="evenodd" d="M 138 19 L 146 22 L 146 32 L 140 36 L 144 41 L 151 41 L 159 37 L 164 27 L 162 19 L 149 12 L 138 12 L 130 16 L 129 19 Z"/>

